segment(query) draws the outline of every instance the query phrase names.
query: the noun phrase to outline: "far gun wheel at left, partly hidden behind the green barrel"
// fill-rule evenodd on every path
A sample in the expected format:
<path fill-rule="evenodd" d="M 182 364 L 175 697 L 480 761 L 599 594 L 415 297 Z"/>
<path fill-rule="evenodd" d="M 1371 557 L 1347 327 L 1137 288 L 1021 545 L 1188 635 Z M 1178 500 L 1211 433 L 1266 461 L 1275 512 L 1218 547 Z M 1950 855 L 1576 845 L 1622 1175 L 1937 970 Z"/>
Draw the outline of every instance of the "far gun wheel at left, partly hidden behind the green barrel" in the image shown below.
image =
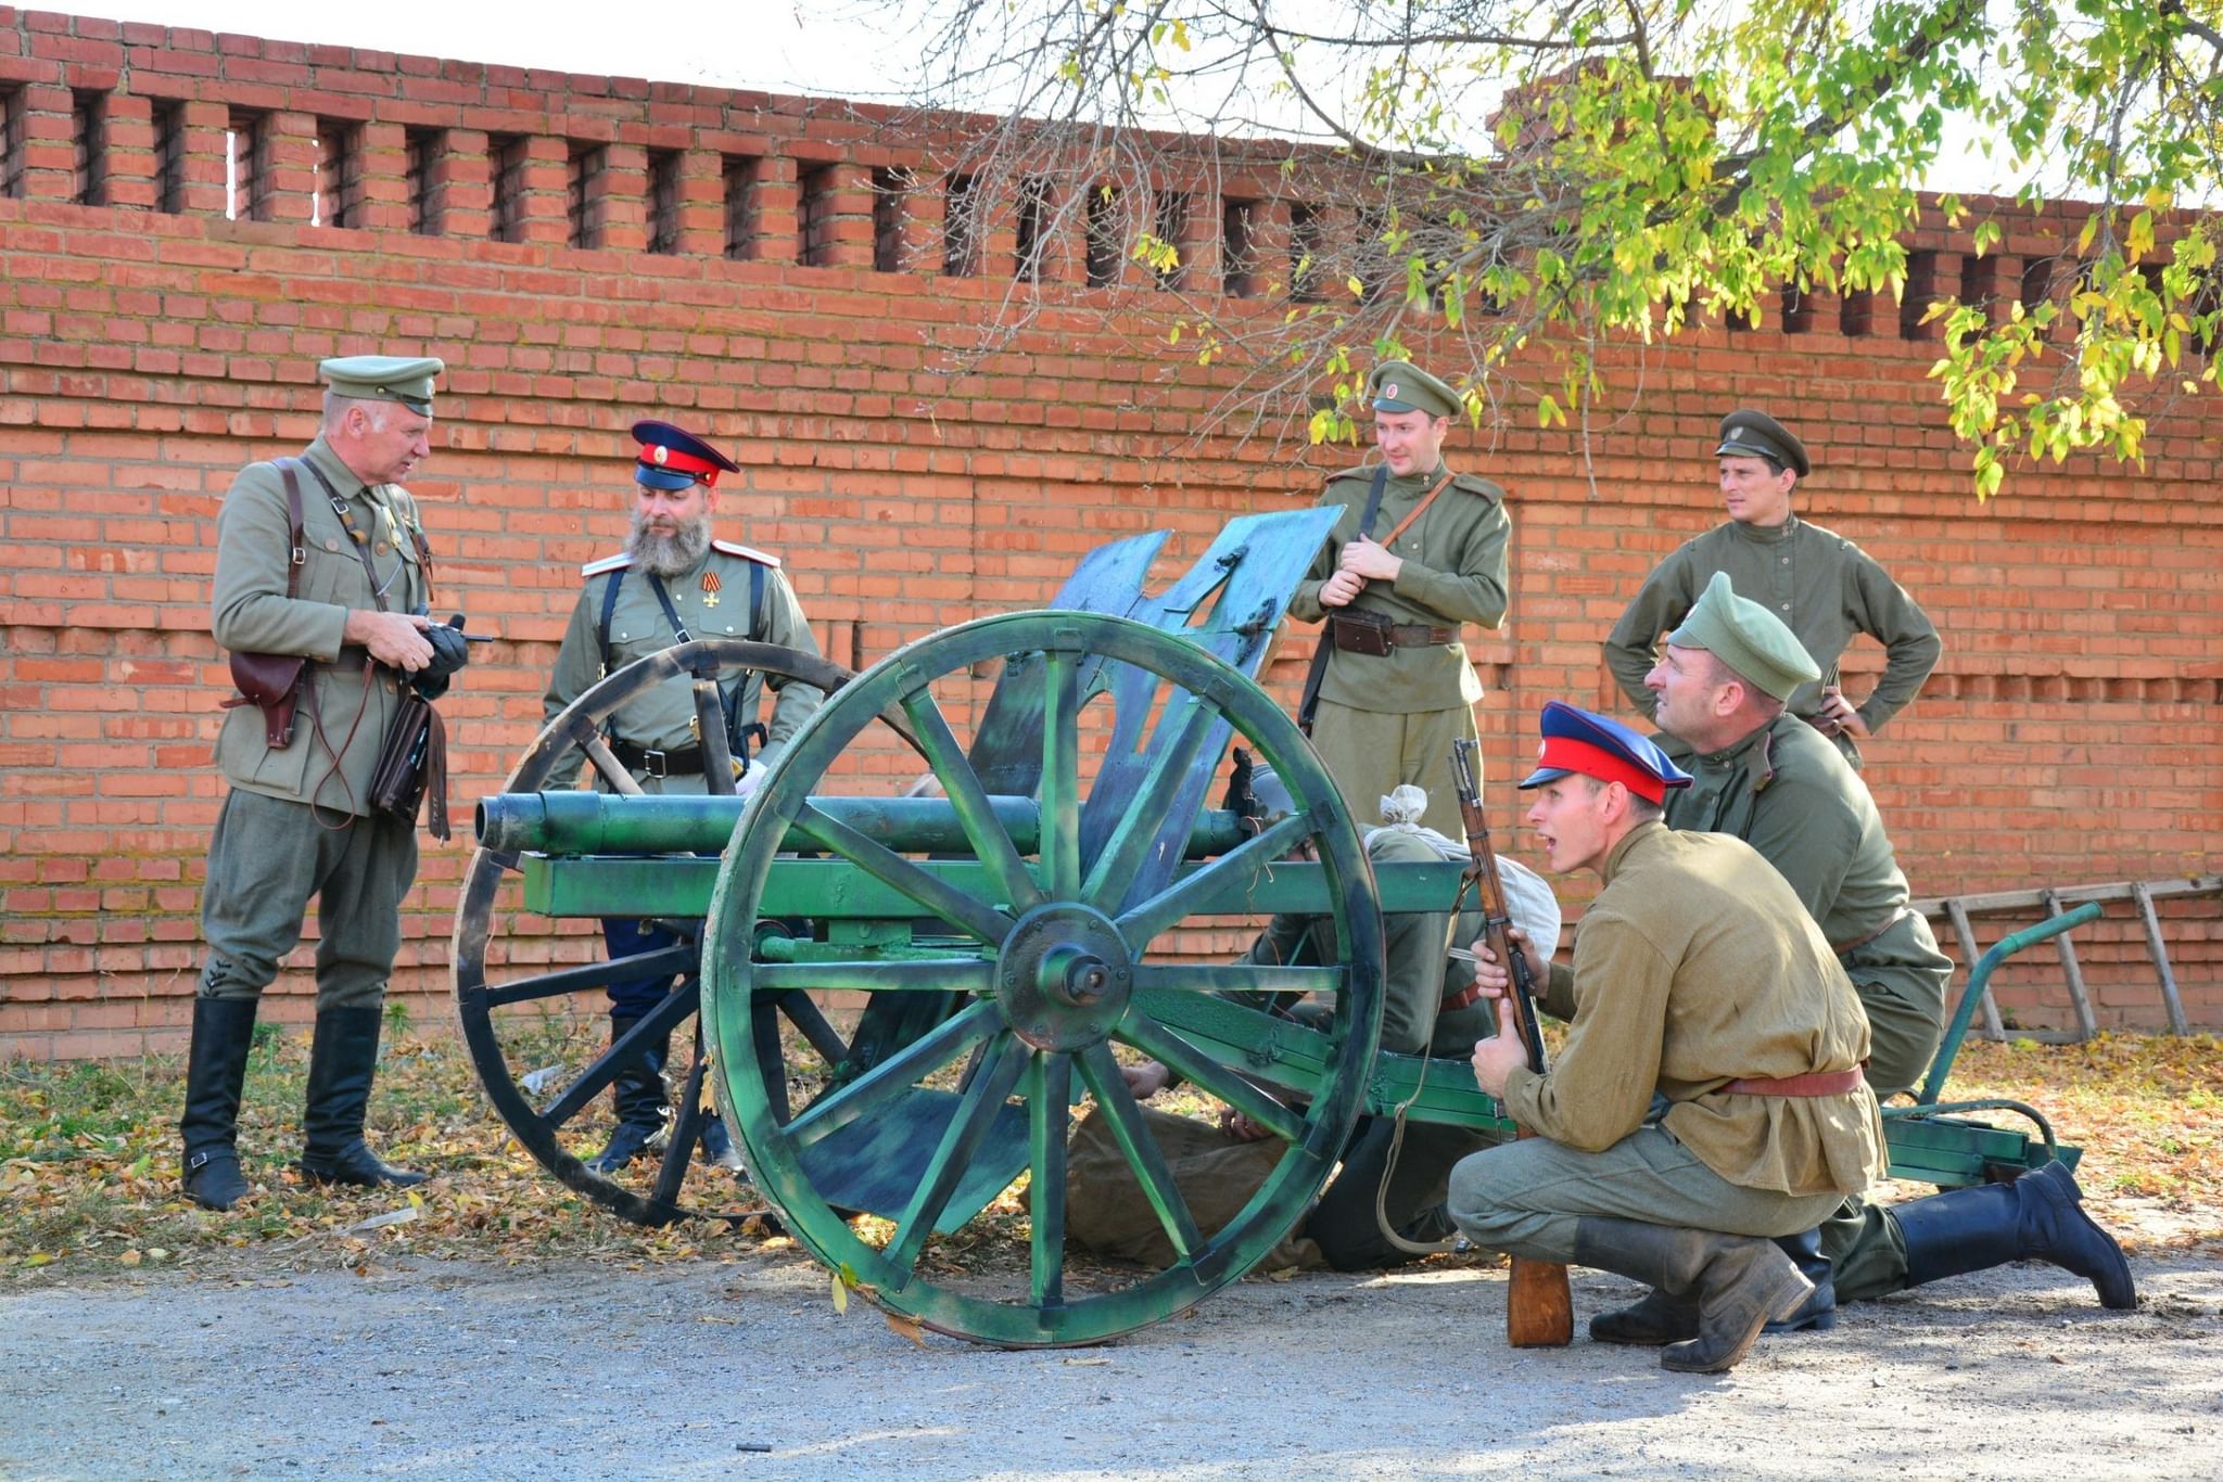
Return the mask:
<path fill-rule="evenodd" d="M 811 684 L 827 693 L 849 682 L 851 671 L 800 649 L 745 642 L 738 638 L 707 638 L 676 644 L 660 653 L 640 658 L 616 673 L 605 675 L 594 689 L 574 700 L 540 731 L 534 744 L 502 782 L 505 793 L 531 793 L 547 787 L 571 787 L 580 773 L 580 758 L 596 778 L 614 793 L 640 793 L 631 773 L 611 755 L 602 724 L 620 713 L 636 698 L 662 687 L 667 680 L 689 675 L 696 691 L 696 707 L 718 704 L 718 678 L 734 671 L 754 669 L 765 675 L 780 675 L 800 684 Z M 722 731 L 707 727 L 711 733 Z M 707 791 L 731 793 L 731 764 L 722 742 L 711 749 L 705 767 Z M 642 1020 L 640 1040 L 662 1040 L 671 1035 L 678 1044 L 696 1040 L 696 987 L 700 962 L 700 922 L 667 922 L 680 935 L 676 947 L 667 947 L 640 958 L 616 962 L 602 955 L 600 938 L 594 938 L 594 960 L 576 967 L 551 969 L 547 962 L 549 938 L 534 933 L 525 951 L 511 960 L 507 938 L 500 933 L 509 907 L 505 884 L 518 875 L 518 858 L 478 849 L 462 875 L 462 891 L 456 902 L 456 929 L 449 940 L 449 971 L 456 989 L 456 1018 L 462 1040 L 471 1051 L 478 1082 L 494 1102 L 496 1113 L 509 1124 L 518 1142 L 540 1166 L 554 1173 L 567 1189 L 591 1198 L 602 1209 L 636 1224 L 671 1224 L 682 1218 L 736 1220 L 760 1209 L 754 1200 L 742 1204 L 745 1193 L 720 1169 L 698 1164 L 694 1151 L 702 1133 L 702 1058 L 694 1058 L 694 1071 L 676 1087 L 676 1111 L 669 1135 L 654 1164 L 638 1162 L 620 1178 L 605 1178 L 591 1171 L 578 1155 L 582 1133 L 589 1140 L 607 1135 L 607 1111 L 602 1093 L 618 1075 L 618 1058 L 607 1049 L 598 1051 L 585 1069 L 569 1064 L 549 1067 L 554 1075 L 538 1073 L 534 1060 L 547 1020 L 556 1009 L 582 1015 L 600 1024 L 609 1013 L 605 989 L 627 978 L 674 973 L 678 982 L 658 1009 Z M 531 1009 L 538 1009 L 534 1013 Z M 778 1004 L 823 1053 L 843 1055 L 840 1035 L 827 1024 L 805 995 L 796 993 Z M 769 1015 L 758 1013 L 758 1020 Z M 776 1024 L 771 1024 L 776 1038 Z M 758 1029 L 765 1033 L 765 1027 Z M 771 1055 L 778 1060 L 778 1055 Z M 674 1058 L 678 1060 L 678 1058 Z M 545 1084 L 554 1080 L 554 1084 Z M 591 1122 L 591 1126 L 574 1122 Z M 638 1171 L 636 1171 L 638 1169 Z"/>

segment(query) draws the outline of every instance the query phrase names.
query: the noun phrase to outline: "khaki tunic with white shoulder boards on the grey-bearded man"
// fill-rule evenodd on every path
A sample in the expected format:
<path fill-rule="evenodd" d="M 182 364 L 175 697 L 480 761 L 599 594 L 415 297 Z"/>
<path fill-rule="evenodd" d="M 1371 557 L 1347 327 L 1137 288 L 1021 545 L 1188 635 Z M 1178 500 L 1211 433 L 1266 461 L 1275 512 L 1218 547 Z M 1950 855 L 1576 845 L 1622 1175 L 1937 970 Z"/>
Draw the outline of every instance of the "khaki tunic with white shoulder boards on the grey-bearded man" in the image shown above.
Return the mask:
<path fill-rule="evenodd" d="M 691 638 L 747 638 L 780 649 L 818 653 L 818 640 L 811 635 L 811 624 L 803 618 L 796 589 L 769 562 L 765 562 L 762 629 L 756 633 L 749 631 L 749 569 L 754 564 L 758 562 L 714 544 L 702 553 L 700 562 L 678 575 L 665 578 L 665 593 L 671 598 L 671 609 L 687 627 L 687 633 Z M 602 593 L 620 573 L 618 607 L 609 615 L 609 653 L 602 653 Z M 711 575 L 716 575 L 716 582 L 709 582 Z M 594 689 L 605 673 L 616 673 L 625 664 L 649 653 L 660 653 L 676 642 L 680 642 L 680 635 L 671 629 L 671 620 L 665 615 L 662 604 L 656 600 L 656 589 L 645 573 L 631 569 L 596 571 L 587 578 L 585 589 L 578 593 L 578 604 L 571 609 L 571 624 L 565 629 L 562 649 L 556 653 L 556 669 L 549 673 L 549 687 L 540 702 L 542 718 L 554 718 L 556 711 Z M 736 713 L 742 724 L 749 724 L 762 707 L 765 680 L 756 671 L 747 671 L 740 684 Z M 825 693 L 811 684 L 785 684 L 776 693 L 778 704 L 767 724 L 769 740 L 754 753 L 751 767 L 769 764 L 811 711 L 818 709 L 818 702 L 825 700 Z M 694 680 L 674 675 L 654 691 L 627 702 L 611 715 L 611 724 L 618 740 L 642 749 L 678 751 L 696 747 Z M 649 793 L 700 793 L 705 789 L 700 775 L 649 778 L 636 773 L 636 778 Z"/>

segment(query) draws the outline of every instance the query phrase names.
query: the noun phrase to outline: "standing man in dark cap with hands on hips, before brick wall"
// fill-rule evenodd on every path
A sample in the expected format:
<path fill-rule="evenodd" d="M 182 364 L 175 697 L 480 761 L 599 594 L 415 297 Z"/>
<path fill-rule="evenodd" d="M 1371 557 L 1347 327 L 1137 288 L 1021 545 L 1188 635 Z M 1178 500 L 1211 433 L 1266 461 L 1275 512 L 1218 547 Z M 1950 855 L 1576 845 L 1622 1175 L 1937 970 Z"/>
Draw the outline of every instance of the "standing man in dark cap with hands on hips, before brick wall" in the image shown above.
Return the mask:
<path fill-rule="evenodd" d="M 1858 742 L 1921 693 L 1943 651 L 1938 633 L 1861 547 L 1792 513 L 1792 491 L 1812 460 L 1783 422 L 1765 411 L 1732 411 L 1714 451 L 1727 522 L 1683 542 L 1645 578 L 1605 640 L 1605 662 L 1629 702 L 1647 709 L 1654 644 L 1683 622 L 1716 573 L 1727 573 L 1736 593 L 1774 613 L 1814 660 L 1814 678 L 1790 695 L 1792 713 L 1858 767 Z M 1883 678 L 1858 704 L 1836 673 L 1856 633 L 1885 651 Z"/>

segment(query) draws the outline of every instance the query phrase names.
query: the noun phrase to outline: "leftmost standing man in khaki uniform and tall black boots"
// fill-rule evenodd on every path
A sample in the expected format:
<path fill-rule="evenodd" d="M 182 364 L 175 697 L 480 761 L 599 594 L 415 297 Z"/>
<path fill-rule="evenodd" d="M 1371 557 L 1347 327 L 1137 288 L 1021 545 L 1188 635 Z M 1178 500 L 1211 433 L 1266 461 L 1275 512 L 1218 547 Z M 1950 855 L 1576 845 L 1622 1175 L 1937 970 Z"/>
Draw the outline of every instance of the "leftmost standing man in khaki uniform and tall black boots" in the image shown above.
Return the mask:
<path fill-rule="evenodd" d="M 216 642 L 300 667 L 298 715 L 233 702 L 216 742 L 231 791 L 209 842 L 193 998 L 185 1193 L 231 1209 L 256 1002 L 318 898 L 316 1042 L 300 1171 L 313 1182 L 420 1184 L 362 1140 L 378 1020 L 416 880 L 416 820 L 371 809 L 371 769 L 409 687 L 447 689 L 460 635 L 429 638 L 431 551 L 400 480 L 431 453 L 429 358 L 327 360 L 325 420 L 300 458 L 240 469 L 216 518 Z M 291 715 L 291 722 L 287 722 Z"/>

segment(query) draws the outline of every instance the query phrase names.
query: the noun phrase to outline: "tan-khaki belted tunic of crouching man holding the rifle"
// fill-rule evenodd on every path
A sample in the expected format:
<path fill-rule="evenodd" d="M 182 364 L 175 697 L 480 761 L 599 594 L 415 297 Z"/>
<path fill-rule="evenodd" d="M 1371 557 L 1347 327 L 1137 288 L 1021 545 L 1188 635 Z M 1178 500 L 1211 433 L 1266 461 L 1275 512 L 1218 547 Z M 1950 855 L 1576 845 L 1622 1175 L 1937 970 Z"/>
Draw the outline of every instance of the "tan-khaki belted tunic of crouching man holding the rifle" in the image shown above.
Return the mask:
<path fill-rule="evenodd" d="M 1638 824 L 1605 862 L 1574 964 L 1545 1009 L 1569 1020 L 1545 1075 L 1514 1069 L 1512 1118 L 1576 1151 L 1665 1129 L 1723 1180 L 1787 1195 L 1858 1193 L 1883 1173 L 1867 1087 L 1745 1095 L 1738 1078 L 1847 1071 L 1867 1055 L 1861 1000 L 1783 875 L 1743 840 Z"/>

